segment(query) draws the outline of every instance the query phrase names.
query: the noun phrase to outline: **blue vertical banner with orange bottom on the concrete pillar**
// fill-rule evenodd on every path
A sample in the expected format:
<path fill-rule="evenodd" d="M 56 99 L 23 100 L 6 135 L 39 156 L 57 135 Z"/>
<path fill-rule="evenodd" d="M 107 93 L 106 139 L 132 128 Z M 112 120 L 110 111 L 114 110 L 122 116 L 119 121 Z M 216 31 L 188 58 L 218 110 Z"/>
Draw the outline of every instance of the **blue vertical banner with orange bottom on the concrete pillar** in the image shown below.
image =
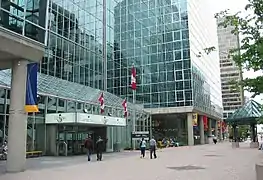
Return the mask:
<path fill-rule="evenodd" d="M 38 63 L 27 65 L 26 112 L 39 112 L 37 105 L 37 71 Z"/>

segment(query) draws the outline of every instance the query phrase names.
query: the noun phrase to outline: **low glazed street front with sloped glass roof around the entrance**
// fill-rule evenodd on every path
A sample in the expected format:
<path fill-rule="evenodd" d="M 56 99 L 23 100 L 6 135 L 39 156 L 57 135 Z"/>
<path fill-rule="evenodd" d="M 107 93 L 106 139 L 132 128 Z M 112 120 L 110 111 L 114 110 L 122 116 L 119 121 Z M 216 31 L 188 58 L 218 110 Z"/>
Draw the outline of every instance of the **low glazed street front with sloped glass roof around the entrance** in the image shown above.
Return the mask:
<path fill-rule="evenodd" d="M 48 150 L 47 127 L 45 116 L 49 113 L 74 113 L 85 112 L 88 114 L 100 114 L 100 105 L 97 101 L 101 90 L 93 89 L 77 83 L 68 82 L 56 77 L 39 74 L 38 78 L 38 113 L 28 115 L 27 125 L 27 151 L 41 150 L 44 153 Z M 9 103 L 10 103 L 11 71 L 0 71 L 0 144 L 7 139 Z M 105 113 L 112 117 L 124 115 L 121 103 L 123 99 L 116 95 L 105 93 Z M 132 132 L 132 119 L 134 115 L 135 127 L 138 131 L 149 131 L 149 115 L 143 112 L 139 105 L 128 103 L 129 117 L 126 127 L 107 127 L 107 138 L 112 144 L 120 143 L 120 148 L 130 147 L 130 133 Z M 133 113 L 135 111 L 135 113 Z M 71 124 L 74 125 L 74 124 Z M 88 126 L 88 125 L 87 125 Z M 82 125 L 82 127 L 86 127 Z M 86 136 L 84 136 L 84 139 Z M 82 142 L 84 141 L 82 140 Z M 107 146 L 110 146 L 109 143 Z M 112 147 L 109 147 L 112 148 Z"/>

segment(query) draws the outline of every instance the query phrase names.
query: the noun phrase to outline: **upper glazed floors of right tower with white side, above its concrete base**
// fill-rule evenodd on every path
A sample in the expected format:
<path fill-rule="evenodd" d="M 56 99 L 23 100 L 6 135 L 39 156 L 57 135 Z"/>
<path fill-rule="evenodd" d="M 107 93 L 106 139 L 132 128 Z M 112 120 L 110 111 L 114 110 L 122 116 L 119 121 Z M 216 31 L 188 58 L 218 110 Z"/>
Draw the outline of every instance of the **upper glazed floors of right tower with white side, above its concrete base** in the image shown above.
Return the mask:
<path fill-rule="evenodd" d="M 191 4 L 194 3 L 187 0 L 123 0 L 115 6 L 115 58 L 108 60 L 110 92 L 132 99 L 127 84 L 134 63 L 136 100 L 145 108 L 195 106 L 221 115 L 218 59 L 207 55 L 200 65 L 204 57 L 196 58 L 204 48 L 217 42 L 201 42 L 207 39 L 204 33 L 198 37 L 200 31 L 195 32 L 199 11 Z M 191 22 L 195 24 L 190 25 Z M 207 70 L 214 72 L 213 78 Z"/>

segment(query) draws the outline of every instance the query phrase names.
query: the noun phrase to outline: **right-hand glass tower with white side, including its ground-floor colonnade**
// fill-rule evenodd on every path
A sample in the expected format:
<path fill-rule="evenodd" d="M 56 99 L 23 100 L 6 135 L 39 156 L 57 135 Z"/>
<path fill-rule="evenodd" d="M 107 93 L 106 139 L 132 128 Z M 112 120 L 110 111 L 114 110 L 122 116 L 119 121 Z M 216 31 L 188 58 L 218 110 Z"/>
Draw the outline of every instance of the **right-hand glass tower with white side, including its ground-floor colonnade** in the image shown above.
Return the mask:
<path fill-rule="evenodd" d="M 108 59 L 107 88 L 132 101 L 134 64 L 136 102 L 152 114 L 157 138 L 173 136 L 192 145 L 195 131 L 202 131 L 193 132 L 193 113 L 199 122 L 203 117 L 222 119 L 219 57 L 203 52 L 217 44 L 209 3 L 123 0 L 114 7 L 114 59 Z"/>

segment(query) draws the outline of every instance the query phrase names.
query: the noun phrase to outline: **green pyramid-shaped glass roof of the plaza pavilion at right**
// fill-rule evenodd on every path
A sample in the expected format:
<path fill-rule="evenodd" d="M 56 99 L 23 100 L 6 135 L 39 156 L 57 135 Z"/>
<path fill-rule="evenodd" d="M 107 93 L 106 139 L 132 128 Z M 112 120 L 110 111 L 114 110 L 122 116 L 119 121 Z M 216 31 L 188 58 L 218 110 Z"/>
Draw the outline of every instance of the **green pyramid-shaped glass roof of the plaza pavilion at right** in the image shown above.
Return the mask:
<path fill-rule="evenodd" d="M 226 119 L 226 122 L 230 124 L 245 125 L 257 123 L 257 120 L 262 116 L 263 111 L 261 105 L 254 100 L 250 100 Z"/>

